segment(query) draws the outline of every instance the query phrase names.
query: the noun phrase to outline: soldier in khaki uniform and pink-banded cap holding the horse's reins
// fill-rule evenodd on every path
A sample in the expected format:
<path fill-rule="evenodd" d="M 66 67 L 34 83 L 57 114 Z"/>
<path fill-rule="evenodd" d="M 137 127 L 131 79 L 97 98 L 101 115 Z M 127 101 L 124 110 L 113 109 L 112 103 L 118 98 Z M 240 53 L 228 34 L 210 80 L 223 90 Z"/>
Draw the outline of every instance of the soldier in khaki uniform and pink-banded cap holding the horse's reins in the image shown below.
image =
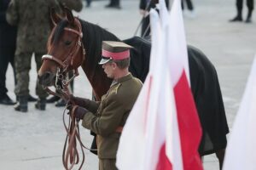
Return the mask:
<path fill-rule="evenodd" d="M 102 42 L 99 64 L 113 83 L 100 102 L 71 96 L 73 103 L 79 105 L 74 116 L 83 121 L 83 127 L 97 135 L 100 170 L 117 169 L 115 161 L 120 133 L 143 86 L 128 71 L 130 48 L 124 42 Z"/>

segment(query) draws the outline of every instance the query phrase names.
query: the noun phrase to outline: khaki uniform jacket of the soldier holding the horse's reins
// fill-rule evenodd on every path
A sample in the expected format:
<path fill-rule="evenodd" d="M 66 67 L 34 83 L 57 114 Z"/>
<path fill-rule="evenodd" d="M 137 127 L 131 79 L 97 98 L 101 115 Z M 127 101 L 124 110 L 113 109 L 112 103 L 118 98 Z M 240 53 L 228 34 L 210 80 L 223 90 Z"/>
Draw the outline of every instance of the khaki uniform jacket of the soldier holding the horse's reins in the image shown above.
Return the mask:
<path fill-rule="evenodd" d="M 96 115 L 85 114 L 82 125 L 97 134 L 98 157 L 114 159 L 119 145 L 120 133 L 126 119 L 143 87 L 143 83 L 131 74 L 121 77 L 102 96 Z"/>

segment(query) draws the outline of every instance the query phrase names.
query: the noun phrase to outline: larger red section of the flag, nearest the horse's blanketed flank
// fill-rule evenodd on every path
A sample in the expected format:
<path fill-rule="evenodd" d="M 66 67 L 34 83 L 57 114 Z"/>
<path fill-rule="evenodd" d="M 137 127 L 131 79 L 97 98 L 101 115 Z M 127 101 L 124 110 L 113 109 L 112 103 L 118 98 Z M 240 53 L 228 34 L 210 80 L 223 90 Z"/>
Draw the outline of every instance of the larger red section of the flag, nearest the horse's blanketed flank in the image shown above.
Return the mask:
<path fill-rule="evenodd" d="M 174 87 L 174 96 L 183 155 L 183 169 L 203 169 L 197 151 L 201 141 L 201 124 L 184 70 Z"/>

